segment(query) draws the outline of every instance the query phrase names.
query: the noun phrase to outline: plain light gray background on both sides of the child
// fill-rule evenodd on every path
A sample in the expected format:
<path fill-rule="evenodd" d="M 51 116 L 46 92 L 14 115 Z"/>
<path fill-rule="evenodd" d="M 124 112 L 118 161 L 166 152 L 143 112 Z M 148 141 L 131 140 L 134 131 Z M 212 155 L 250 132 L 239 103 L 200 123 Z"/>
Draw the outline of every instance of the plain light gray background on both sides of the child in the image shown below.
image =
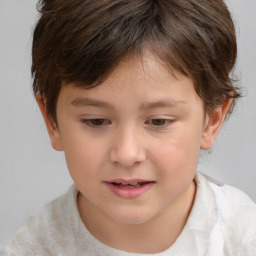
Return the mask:
<path fill-rule="evenodd" d="M 227 1 L 237 27 L 245 97 L 198 170 L 256 201 L 256 0 Z M 64 155 L 50 145 L 31 90 L 35 0 L 0 0 L 0 244 L 72 183 Z"/>

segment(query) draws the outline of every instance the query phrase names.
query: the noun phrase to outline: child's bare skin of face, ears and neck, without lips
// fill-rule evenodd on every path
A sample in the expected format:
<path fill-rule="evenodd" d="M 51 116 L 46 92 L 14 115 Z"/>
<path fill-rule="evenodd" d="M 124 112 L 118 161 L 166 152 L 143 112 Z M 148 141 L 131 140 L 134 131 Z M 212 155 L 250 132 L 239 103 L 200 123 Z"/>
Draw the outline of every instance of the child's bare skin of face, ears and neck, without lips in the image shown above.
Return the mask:
<path fill-rule="evenodd" d="M 170 247 L 193 206 L 199 152 L 212 146 L 231 102 L 205 113 L 193 81 L 150 53 L 123 61 L 95 88 L 63 85 L 58 125 L 40 95 L 37 102 L 53 148 L 65 152 L 91 234 L 128 252 Z M 113 179 L 154 183 L 124 199 L 106 186 Z"/>

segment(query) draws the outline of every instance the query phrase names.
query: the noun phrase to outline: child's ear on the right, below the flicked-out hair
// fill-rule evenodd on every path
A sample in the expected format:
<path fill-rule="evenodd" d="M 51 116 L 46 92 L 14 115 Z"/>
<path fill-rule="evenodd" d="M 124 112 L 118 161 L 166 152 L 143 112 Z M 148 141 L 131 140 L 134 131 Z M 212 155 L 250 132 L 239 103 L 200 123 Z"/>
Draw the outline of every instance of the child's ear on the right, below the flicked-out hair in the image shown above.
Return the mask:
<path fill-rule="evenodd" d="M 212 147 L 229 110 L 232 99 L 228 99 L 223 105 L 207 114 L 200 149 L 208 150 Z"/>

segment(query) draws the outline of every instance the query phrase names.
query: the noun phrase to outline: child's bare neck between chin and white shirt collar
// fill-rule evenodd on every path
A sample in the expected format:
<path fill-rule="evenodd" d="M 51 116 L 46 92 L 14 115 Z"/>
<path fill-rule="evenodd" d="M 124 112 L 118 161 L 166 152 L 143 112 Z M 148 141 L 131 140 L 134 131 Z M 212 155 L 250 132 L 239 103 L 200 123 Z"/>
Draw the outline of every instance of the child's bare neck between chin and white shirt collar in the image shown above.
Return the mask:
<path fill-rule="evenodd" d="M 120 224 L 78 195 L 80 216 L 89 232 L 100 242 L 112 248 L 132 253 L 158 253 L 168 249 L 183 230 L 193 206 L 196 185 L 193 181 L 187 191 L 161 214 L 142 224 Z"/>

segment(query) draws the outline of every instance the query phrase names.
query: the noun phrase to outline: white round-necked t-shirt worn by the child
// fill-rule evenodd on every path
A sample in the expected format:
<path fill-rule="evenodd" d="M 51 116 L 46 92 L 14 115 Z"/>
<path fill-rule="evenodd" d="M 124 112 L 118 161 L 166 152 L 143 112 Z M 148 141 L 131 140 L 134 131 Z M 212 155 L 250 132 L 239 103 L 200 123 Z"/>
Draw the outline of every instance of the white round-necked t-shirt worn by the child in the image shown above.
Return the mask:
<path fill-rule="evenodd" d="M 10 256 L 255 256 L 256 205 L 238 189 L 217 185 L 197 174 L 197 193 L 187 223 L 164 252 L 127 253 L 95 239 L 83 224 L 78 190 L 66 194 L 30 217 L 10 242 Z"/>

